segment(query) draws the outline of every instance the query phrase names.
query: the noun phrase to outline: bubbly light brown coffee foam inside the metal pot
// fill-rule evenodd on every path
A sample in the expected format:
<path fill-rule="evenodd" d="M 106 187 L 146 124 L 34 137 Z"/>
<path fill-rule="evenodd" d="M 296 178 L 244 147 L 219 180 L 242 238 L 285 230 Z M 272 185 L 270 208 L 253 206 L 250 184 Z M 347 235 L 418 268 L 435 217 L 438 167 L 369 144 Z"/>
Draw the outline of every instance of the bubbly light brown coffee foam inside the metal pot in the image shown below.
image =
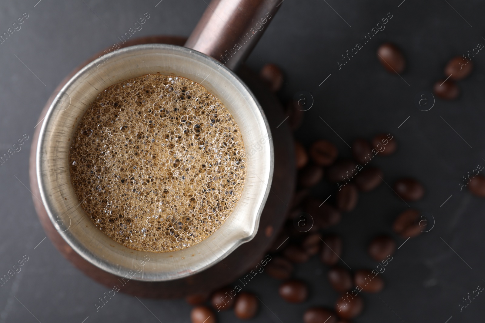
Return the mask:
<path fill-rule="evenodd" d="M 151 252 L 206 239 L 234 210 L 246 176 L 232 115 L 187 78 L 148 74 L 97 95 L 74 133 L 71 181 L 114 241 Z"/>

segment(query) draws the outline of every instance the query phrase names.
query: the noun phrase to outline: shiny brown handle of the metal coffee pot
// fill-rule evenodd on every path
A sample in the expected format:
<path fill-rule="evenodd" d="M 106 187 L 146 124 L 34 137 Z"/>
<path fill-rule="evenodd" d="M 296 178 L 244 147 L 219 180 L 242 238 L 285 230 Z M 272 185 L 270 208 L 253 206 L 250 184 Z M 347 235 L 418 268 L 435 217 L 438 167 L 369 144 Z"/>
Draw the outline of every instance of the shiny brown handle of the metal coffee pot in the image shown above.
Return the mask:
<path fill-rule="evenodd" d="M 186 47 L 235 71 L 274 19 L 281 0 L 212 0 Z"/>

